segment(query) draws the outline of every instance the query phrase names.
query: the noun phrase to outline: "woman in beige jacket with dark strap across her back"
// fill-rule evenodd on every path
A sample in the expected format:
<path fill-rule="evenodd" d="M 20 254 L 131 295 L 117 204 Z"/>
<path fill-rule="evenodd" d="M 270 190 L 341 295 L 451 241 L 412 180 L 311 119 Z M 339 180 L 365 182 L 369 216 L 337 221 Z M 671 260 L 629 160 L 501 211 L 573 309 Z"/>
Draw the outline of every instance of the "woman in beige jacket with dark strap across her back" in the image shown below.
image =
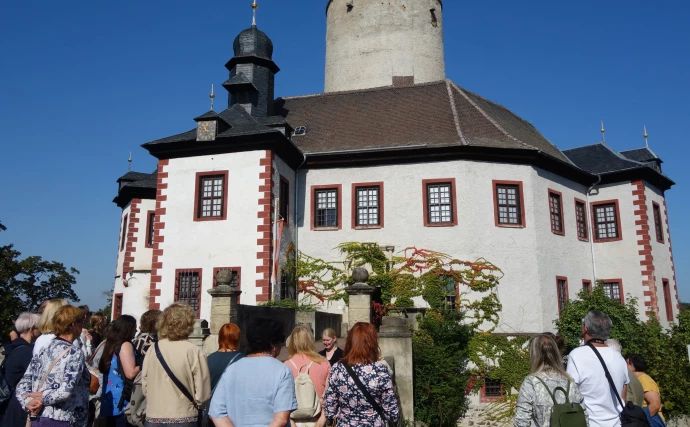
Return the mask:
<path fill-rule="evenodd" d="M 158 341 L 146 352 L 141 371 L 145 426 L 196 427 L 199 408 L 211 396 L 206 356 L 189 341 L 195 319 L 189 305 L 175 303 L 158 321 Z"/>

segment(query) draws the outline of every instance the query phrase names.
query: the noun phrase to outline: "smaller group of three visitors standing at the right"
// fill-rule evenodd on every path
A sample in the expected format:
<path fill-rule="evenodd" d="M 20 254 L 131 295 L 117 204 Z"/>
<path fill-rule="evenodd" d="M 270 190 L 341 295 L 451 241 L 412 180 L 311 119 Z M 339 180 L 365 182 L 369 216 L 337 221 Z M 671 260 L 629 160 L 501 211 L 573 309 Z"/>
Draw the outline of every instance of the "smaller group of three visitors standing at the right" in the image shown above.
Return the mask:
<path fill-rule="evenodd" d="M 622 420 L 665 427 L 659 386 L 645 373 L 642 356 L 622 356 L 612 327 L 605 313 L 590 311 L 582 320 L 584 345 L 567 355 L 567 364 L 561 337 L 530 340 L 531 374 L 518 393 L 515 427 L 550 427 L 554 407 L 566 403 L 582 407 L 590 427 L 620 427 Z"/>

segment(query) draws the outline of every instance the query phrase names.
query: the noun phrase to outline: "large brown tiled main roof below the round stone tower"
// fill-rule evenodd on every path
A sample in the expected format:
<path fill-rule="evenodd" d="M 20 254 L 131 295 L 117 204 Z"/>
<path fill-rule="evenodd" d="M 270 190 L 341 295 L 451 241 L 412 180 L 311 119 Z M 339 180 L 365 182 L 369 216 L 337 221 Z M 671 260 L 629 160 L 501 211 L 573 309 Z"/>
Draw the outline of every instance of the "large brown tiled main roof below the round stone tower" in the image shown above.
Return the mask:
<path fill-rule="evenodd" d="M 276 109 L 293 128 L 307 127 L 293 137 L 307 154 L 465 145 L 541 151 L 570 163 L 530 123 L 450 80 L 287 97 Z"/>

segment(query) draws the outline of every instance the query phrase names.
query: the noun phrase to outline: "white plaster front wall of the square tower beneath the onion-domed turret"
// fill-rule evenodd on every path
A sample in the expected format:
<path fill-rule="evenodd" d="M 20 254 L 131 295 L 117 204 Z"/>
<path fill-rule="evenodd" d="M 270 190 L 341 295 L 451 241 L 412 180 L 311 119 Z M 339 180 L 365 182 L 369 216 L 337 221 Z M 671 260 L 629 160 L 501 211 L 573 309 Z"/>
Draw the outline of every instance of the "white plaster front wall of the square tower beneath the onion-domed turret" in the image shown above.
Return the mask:
<path fill-rule="evenodd" d="M 209 319 L 214 267 L 242 268 L 243 304 L 256 302 L 259 165 L 265 151 L 171 159 L 163 207 L 165 237 L 161 257 L 161 308 L 174 302 L 175 269 L 202 269 L 201 318 Z M 228 171 L 228 216 L 222 221 L 194 221 L 196 173 Z"/>

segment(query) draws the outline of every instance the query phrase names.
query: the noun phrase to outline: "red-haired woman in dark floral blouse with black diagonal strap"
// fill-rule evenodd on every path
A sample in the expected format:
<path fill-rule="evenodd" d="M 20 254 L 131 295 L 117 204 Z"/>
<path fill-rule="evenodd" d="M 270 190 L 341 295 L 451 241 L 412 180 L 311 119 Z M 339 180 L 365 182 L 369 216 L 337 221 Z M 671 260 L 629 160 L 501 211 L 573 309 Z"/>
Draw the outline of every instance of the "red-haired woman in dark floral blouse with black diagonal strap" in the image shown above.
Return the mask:
<path fill-rule="evenodd" d="M 347 334 L 344 357 L 331 368 L 323 411 L 328 421 L 336 420 L 338 427 L 385 427 L 400 417 L 393 379 L 388 366 L 380 361 L 378 338 L 374 325 L 356 323 Z M 366 387 L 382 414 L 369 403 L 348 368 Z M 320 425 L 323 424 L 317 424 Z"/>

